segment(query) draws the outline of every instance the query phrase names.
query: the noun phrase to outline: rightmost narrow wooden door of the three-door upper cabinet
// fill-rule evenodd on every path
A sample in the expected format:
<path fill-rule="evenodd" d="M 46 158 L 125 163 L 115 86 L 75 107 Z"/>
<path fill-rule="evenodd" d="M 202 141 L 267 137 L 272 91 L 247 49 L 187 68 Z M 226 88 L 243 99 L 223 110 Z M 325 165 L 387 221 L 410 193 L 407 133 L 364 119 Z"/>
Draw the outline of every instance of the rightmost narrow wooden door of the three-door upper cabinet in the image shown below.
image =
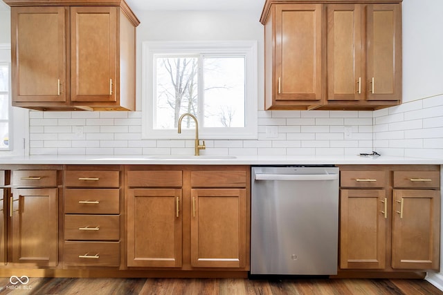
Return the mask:
<path fill-rule="evenodd" d="M 401 99 L 401 4 L 372 4 L 367 19 L 367 99 Z"/>

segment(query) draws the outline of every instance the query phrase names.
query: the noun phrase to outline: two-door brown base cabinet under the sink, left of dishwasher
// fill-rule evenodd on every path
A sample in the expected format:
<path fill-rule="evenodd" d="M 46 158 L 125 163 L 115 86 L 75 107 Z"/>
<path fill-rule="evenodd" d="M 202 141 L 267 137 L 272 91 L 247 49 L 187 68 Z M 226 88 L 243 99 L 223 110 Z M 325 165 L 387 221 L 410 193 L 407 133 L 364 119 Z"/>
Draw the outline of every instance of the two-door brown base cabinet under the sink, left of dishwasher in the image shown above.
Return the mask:
<path fill-rule="evenodd" d="M 127 266 L 249 269 L 248 166 L 131 166 Z"/>

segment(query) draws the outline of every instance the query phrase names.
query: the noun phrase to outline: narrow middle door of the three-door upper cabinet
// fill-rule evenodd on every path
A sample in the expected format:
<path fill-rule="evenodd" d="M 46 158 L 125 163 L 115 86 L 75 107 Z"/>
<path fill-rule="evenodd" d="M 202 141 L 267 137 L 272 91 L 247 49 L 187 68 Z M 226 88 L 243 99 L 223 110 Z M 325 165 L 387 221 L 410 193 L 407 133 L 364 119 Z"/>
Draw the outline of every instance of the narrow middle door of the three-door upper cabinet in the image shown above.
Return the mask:
<path fill-rule="evenodd" d="M 327 6 L 327 99 L 365 98 L 364 19 L 359 4 Z"/>

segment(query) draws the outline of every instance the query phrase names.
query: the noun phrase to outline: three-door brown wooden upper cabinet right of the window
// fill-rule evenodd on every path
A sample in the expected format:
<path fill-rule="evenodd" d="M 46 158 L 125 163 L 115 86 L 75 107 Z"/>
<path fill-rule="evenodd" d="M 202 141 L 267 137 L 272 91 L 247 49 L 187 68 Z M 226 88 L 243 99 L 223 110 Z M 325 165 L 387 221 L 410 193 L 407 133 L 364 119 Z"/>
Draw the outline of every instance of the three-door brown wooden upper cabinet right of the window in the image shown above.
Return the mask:
<path fill-rule="evenodd" d="M 265 109 L 401 103 L 401 0 L 336 2 L 266 0 Z"/>

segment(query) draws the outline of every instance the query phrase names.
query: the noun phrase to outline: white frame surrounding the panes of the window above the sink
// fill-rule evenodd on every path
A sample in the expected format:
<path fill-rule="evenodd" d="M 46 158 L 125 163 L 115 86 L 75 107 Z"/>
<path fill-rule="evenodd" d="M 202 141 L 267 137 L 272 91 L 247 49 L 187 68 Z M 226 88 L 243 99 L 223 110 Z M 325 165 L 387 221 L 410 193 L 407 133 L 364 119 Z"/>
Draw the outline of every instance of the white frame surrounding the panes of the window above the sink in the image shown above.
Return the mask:
<path fill-rule="evenodd" d="M 191 139 L 195 129 L 154 129 L 154 56 L 155 55 L 223 55 L 245 57 L 245 126 L 205 128 L 199 124 L 201 139 L 256 139 L 257 138 L 257 41 L 144 41 L 142 43 L 142 138 Z M 197 118 L 202 122 L 199 109 Z"/>

